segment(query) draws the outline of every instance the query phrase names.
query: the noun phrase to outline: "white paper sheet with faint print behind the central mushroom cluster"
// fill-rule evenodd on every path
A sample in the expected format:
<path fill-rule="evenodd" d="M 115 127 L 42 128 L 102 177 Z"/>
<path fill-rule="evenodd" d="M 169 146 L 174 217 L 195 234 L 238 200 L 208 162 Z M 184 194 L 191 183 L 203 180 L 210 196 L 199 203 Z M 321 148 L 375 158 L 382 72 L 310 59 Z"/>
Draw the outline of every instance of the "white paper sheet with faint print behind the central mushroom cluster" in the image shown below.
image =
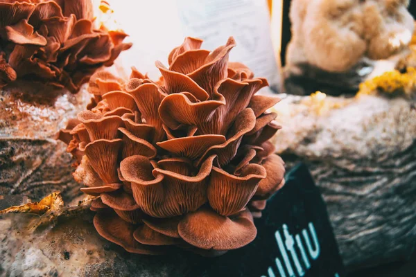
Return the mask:
<path fill-rule="evenodd" d="M 204 39 L 207 49 L 233 36 L 237 46 L 229 60 L 243 62 L 270 84 L 279 83 L 266 0 L 177 0 L 177 8 L 186 35 Z"/>

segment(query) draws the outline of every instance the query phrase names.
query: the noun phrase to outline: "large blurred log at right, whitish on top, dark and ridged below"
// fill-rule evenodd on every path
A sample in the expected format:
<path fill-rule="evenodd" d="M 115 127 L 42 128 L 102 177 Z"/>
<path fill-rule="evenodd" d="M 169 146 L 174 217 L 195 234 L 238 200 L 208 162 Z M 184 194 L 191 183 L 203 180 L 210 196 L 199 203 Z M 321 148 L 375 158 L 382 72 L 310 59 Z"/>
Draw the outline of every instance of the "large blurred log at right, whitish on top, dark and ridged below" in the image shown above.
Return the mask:
<path fill-rule="evenodd" d="M 416 242 L 416 109 L 376 96 L 288 96 L 276 145 L 305 161 L 349 269 L 407 258 Z"/>

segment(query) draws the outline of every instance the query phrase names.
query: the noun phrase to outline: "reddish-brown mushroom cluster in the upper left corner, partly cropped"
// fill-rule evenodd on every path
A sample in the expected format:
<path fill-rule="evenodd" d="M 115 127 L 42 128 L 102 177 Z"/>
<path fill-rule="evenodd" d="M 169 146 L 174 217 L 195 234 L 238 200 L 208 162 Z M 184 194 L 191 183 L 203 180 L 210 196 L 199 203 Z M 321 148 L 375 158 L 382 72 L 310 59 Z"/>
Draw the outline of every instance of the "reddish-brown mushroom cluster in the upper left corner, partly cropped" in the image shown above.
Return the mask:
<path fill-rule="evenodd" d="M 21 79 L 76 93 L 131 46 L 93 21 L 91 0 L 0 0 L 0 88 Z"/>

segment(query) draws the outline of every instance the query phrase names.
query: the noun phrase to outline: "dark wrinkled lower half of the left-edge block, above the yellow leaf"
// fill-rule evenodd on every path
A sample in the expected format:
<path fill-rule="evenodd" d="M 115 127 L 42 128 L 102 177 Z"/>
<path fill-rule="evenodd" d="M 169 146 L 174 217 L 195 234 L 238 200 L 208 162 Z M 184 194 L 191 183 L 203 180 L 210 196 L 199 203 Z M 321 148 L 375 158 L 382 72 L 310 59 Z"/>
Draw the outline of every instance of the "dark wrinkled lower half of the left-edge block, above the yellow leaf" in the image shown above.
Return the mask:
<path fill-rule="evenodd" d="M 0 195 L 39 200 L 52 191 L 64 199 L 80 195 L 65 145 L 48 139 L 0 140 Z"/>

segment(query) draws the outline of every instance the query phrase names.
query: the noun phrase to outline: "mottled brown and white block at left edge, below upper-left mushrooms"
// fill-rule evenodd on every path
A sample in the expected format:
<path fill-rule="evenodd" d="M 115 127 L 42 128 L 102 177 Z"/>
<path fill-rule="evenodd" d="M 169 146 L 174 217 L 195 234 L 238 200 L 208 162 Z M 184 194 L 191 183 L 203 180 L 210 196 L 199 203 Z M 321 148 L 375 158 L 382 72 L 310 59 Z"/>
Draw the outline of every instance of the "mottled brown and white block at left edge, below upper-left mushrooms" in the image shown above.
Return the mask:
<path fill-rule="evenodd" d="M 21 83 L 0 90 L 0 195 L 39 200 L 53 190 L 65 199 L 79 194 L 71 158 L 53 137 L 90 96 L 85 90 L 77 96 L 61 91 L 51 98 L 44 89 Z"/>

